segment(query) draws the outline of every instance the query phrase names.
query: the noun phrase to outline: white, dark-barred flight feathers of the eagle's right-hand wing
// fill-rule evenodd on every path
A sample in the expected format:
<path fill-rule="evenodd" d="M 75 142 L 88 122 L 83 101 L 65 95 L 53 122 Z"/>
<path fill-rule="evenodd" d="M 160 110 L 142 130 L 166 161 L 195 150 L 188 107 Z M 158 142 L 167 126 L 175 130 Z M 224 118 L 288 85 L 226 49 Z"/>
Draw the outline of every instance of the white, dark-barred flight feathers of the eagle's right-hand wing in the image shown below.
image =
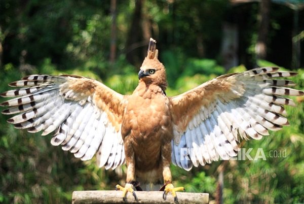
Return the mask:
<path fill-rule="evenodd" d="M 241 139 L 260 140 L 268 135 L 268 129 L 280 130 L 289 125 L 283 105 L 295 106 L 292 99 L 284 95 L 304 95 L 302 91 L 292 88 L 295 84 L 289 80 L 276 80 L 275 77 L 290 77 L 296 73 L 277 72 L 277 67 L 262 67 L 236 75 L 245 89 L 238 98 L 227 99 L 220 96 L 210 101 L 208 107 L 201 107 L 186 130 L 181 135 L 179 144 L 172 142 L 173 164 L 186 169 L 192 165 L 183 166 L 181 149 L 187 148 L 187 156 L 194 166 L 204 165 L 212 161 L 229 159 L 237 155 L 237 142 Z M 237 83 L 236 82 L 236 83 Z M 242 87 L 242 88 L 243 88 Z M 239 89 L 241 90 L 241 89 Z M 237 90 L 233 93 L 240 94 Z M 235 91 L 235 92 L 234 92 Z M 178 132 L 174 132 L 179 137 Z M 181 151 L 182 152 L 182 151 Z"/>

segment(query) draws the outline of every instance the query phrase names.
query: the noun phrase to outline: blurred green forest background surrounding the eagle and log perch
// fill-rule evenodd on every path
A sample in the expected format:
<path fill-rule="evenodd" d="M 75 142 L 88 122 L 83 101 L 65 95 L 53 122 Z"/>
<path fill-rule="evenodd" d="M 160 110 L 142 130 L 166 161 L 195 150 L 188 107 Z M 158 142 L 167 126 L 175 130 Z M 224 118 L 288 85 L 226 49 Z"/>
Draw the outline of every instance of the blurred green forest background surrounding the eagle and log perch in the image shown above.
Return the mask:
<path fill-rule="evenodd" d="M 0 92 L 44 73 L 82 75 L 131 93 L 150 37 L 158 41 L 169 96 L 269 65 L 298 72 L 293 81 L 303 90 L 303 8 L 301 0 L 1 0 Z M 218 161 L 190 172 L 172 165 L 174 184 L 217 203 L 304 202 L 304 98 L 293 99 L 290 126 L 242 143 L 253 158 L 262 148 L 266 160 Z M 80 161 L 52 147 L 51 135 L 14 129 L 8 118 L 0 114 L 0 203 L 71 203 L 74 190 L 124 183 L 125 166 L 99 169 L 95 158 Z"/>

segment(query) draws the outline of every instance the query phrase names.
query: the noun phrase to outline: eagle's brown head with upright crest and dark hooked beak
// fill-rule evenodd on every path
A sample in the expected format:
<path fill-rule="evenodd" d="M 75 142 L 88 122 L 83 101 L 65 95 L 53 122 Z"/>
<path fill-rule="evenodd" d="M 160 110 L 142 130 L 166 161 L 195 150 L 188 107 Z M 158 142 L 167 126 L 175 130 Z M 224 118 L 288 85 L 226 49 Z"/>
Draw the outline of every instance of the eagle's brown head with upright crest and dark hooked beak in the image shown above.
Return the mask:
<path fill-rule="evenodd" d="M 138 78 L 145 84 L 155 84 L 163 90 L 167 87 L 167 78 L 165 66 L 158 60 L 158 50 L 156 49 L 156 41 L 150 38 L 148 54 L 144 58 Z"/>

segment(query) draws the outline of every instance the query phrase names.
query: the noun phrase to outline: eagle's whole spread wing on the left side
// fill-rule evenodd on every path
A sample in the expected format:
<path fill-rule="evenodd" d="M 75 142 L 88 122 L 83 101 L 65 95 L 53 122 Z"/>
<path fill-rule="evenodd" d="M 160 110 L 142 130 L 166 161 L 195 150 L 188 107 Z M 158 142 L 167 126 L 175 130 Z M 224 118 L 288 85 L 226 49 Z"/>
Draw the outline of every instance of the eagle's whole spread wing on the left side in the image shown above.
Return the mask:
<path fill-rule="evenodd" d="M 79 76 L 30 75 L 10 83 L 19 87 L 1 94 L 15 97 L 1 106 L 3 114 L 18 129 L 55 132 L 51 144 L 74 153 L 82 160 L 96 151 L 98 165 L 116 168 L 125 162 L 121 122 L 126 96 L 102 83 Z M 20 88 L 21 87 L 21 88 Z"/>

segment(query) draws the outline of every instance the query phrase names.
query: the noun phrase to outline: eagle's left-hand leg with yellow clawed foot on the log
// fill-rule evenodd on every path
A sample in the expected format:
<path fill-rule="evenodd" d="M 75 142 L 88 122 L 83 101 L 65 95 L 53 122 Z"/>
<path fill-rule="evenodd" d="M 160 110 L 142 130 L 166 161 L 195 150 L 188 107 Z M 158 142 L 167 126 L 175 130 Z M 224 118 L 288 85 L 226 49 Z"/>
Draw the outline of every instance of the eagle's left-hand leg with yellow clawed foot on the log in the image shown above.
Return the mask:
<path fill-rule="evenodd" d="M 128 143 L 125 143 L 125 147 L 128 145 Z M 126 150 L 126 148 L 125 148 Z M 138 201 L 138 198 L 135 194 L 134 187 L 137 186 L 138 182 L 135 181 L 135 158 L 134 158 L 134 152 L 132 151 L 132 148 L 129 149 L 129 151 L 125 151 L 126 161 L 127 161 L 127 179 L 126 179 L 126 185 L 125 187 L 122 187 L 121 185 L 117 184 L 115 187 L 115 190 L 121 190 L 123 191 L 123 200 L 127 201 L 127 193 L 131 192 L 134 196 L 135 200 Z M 128 157 L 128 158 L 127 158 Z"/>

